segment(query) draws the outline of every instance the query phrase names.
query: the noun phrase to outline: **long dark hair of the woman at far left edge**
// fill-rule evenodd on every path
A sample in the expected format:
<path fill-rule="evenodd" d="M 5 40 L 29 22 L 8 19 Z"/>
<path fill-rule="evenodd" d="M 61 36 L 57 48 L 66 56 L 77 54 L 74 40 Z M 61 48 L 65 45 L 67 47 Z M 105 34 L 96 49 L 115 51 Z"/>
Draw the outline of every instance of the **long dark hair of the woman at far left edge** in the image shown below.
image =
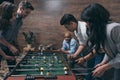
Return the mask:
<path fill-rule="evenodd" d="M 2 4 L 0 4 L 0 16 L 2 19 L 10 20 L 13 16 L 13 12 L 17 10 L 17 7 L 10 3 L 4 1 Z"/>

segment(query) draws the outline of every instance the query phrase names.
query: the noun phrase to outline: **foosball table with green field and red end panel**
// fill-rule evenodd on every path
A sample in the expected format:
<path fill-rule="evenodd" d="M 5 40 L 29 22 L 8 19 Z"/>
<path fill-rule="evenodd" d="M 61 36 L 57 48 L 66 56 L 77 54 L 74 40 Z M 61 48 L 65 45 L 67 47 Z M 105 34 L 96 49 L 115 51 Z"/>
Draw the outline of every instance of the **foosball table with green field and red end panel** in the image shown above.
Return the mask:
<path fill-rule="evenodd" d="M 5 80 L 76 80 L 63 54 L 29 51 Z"/>

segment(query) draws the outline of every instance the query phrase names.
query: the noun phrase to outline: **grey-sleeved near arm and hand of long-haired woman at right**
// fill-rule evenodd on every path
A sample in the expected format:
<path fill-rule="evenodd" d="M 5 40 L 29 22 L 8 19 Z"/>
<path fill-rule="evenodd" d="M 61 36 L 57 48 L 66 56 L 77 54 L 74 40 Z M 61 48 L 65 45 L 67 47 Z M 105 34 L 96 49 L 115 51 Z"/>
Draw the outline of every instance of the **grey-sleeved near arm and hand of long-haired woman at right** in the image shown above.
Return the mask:
<path fill-rule="evenodd" d="M 106 58 L 104 58 L 104 60 L 102 61 L 103 64 L 98 66 L 93 71 L 93 76 L 96 76 L 96 77 L 102 76 L 103 73 L 110 68 L 116 68 L 116 69 L 120 68 L 120 26 L 112 29 L 111 39 L 113 40 L 117 49 L 116 55 L 111 60 L 109 60 L 109 56 L 105 55 Z"/>

